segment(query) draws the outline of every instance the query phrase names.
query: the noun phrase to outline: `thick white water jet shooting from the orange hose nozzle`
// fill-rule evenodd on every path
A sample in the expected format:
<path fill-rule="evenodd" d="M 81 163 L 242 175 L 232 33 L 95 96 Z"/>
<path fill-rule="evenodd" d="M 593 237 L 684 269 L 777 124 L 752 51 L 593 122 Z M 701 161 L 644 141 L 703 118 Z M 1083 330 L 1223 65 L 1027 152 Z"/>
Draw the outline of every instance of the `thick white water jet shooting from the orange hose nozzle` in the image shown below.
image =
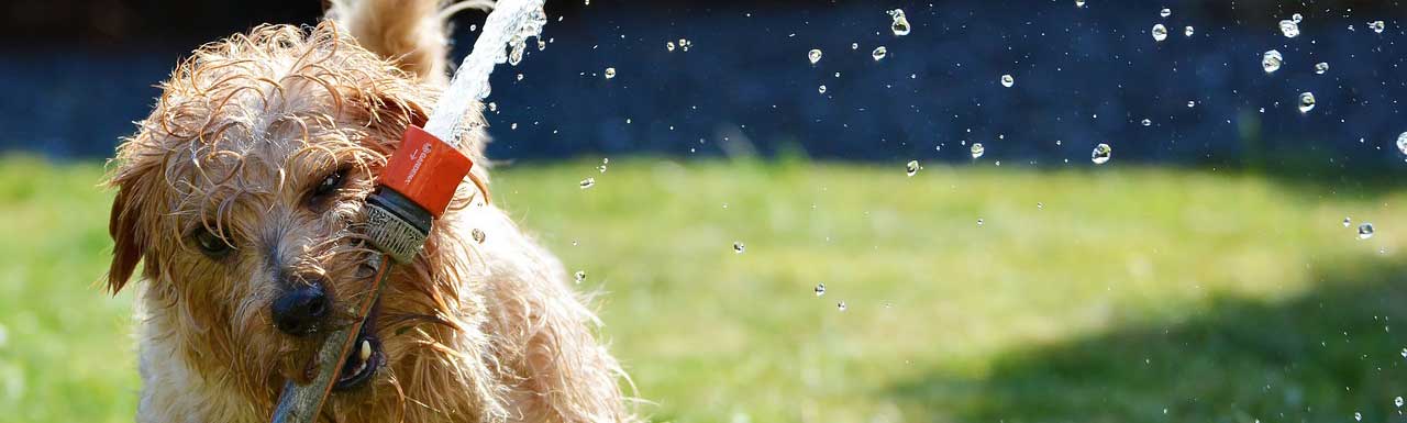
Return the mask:
<path fill-rule="evenodd" d="M 494 6 L 484 21 L 484 31 L 474 41 L 473 52 L 464 58 L 450 79 L 449 89 L 440 94 L 439 104 L 425 124 L 425 132 L 459 145 L 464 114 L 476 101 L 488 97 L 488 74 L 494 72 L 494 66 L 504 62 L 516 66 L 528 48 L 528 38 L 542 35 L 542 27 L 547 24 L 542 3 L 543 0 L 499 0 Z"/>

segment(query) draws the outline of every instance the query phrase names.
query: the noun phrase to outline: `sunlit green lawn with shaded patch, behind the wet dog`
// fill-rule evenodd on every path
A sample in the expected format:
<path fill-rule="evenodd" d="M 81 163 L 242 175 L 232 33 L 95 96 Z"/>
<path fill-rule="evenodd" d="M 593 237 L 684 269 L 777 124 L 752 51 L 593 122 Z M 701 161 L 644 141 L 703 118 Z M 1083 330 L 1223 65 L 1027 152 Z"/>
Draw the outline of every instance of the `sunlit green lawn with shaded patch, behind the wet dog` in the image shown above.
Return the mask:
<path fill-rule="evenodd" d="M 1407 190 L 1119 163 L 595 166 L 502 169 L 495 201 L 587 271 L 656 420 L 1404 419 Z M 100 174 L 0 160 L 0 422 L 132 417 L 131 294 L 96 285 Z"/>

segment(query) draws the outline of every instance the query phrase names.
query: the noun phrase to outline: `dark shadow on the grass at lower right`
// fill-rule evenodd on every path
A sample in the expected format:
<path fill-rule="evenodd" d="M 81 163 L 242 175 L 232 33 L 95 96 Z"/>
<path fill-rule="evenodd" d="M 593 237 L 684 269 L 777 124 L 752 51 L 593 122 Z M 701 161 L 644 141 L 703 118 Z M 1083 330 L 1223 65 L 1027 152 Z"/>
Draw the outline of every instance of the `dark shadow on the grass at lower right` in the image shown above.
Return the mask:
<path fill-rule="evenodd" d="M 957 422 L 1407 422 L 1394 406 L 1407 395 L 1404 270 L 1325 274 L 1273 304 L 1220 298 L 1182 322 L 1031 346 L 983 378 L 931 371 L 884 393 Z"/>

